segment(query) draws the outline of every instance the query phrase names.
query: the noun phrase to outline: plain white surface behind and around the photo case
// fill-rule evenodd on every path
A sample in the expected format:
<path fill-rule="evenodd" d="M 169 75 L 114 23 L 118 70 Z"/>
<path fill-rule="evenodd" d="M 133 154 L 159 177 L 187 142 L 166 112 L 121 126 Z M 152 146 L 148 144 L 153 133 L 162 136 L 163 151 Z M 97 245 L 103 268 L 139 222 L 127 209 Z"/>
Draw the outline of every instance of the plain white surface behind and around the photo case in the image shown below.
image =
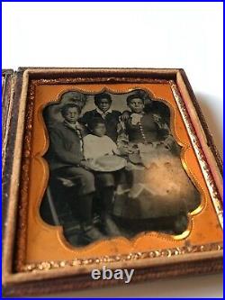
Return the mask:
<path fill-rule="evenodd" d="M 222 154 L 221 3 L 3 3 L 3 68 L 184 68 Z M 70 296 L 220 297 L 221 275 Z"/>

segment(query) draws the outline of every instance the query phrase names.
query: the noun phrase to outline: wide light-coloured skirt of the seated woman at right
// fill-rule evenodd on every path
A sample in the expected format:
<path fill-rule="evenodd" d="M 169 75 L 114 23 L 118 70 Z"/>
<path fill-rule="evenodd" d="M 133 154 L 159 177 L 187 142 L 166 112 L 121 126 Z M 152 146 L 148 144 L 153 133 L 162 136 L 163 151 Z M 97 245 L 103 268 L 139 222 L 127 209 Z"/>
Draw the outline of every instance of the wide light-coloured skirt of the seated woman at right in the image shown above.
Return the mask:
<path fill-rule="evenodd" d="M 124 218 L 157 218 L 187 214 L 201 196 L 184 171 L 181 159 L 164 145 L 138 144 L 139 164 L 128 162 L 129 182 L 115 191 L 112 214 Z M 132 160 L 132 156 L 130 157 Z"/>

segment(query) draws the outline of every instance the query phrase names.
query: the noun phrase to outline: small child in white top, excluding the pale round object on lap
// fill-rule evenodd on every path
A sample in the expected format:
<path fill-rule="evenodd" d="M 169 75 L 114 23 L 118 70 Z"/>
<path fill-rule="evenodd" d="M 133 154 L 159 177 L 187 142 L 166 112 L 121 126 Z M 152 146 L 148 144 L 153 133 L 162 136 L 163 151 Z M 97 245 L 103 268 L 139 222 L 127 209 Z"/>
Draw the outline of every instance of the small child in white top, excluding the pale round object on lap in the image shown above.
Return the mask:
<path fill-rule="evenodd" d="M 106 126 L 101 118 L 93 119 L 90 123 L 92 134 L 84 138 L 84 156 L 86 160 L 94 160 L 107 155 L 120 154 L 116 144 L 105 135 Z M 116 157 L 115 157 L 116 159 Z M 101 219 L 105 232 L 110 236 L 121 235 L 117 225 L 111 217 L 112 200 L 115 189 L 114 172 L 95 171 L 95 179 L 99 186 L 100 196 L 103 204 Z"/>

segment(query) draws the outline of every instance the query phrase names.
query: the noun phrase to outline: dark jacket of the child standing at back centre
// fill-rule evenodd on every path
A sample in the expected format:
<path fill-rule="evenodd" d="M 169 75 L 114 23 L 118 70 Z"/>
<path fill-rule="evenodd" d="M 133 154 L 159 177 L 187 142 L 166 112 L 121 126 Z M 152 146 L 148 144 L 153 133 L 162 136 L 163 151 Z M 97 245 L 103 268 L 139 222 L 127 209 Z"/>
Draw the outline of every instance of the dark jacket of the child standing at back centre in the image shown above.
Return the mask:
<path fill-rule="evenodd" d="M 121 112 L 112 110 L 112 113 L 106 114 L 105 119 L 103 119 L 102 115 L 94 109 L 93 111 L 86 112 L 79 119 L 79 123 L 83 123 L 84 125 L 87 125 L 89 127 L 93 119 L 101 118 L 105 121 L 106 134 L 112 139 L 112 141 L 116 141 L 118 136 L 117 125 L 119 123 L 120 116 Z"/>

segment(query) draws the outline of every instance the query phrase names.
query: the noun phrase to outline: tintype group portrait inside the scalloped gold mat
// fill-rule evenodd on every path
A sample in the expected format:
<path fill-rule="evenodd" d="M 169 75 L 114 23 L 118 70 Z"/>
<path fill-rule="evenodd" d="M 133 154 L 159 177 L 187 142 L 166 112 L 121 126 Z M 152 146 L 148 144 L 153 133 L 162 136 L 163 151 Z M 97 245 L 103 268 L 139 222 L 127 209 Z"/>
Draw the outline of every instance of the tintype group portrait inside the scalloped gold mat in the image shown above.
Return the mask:
<path fill-rule="evenodd" d="M 201 193 L 182 161 L 172 110 L 145 89 L 66 90 L 42 110 L 49 183 L 40 204 L 82 247 L 141 232 L 180 235 Z"/>

